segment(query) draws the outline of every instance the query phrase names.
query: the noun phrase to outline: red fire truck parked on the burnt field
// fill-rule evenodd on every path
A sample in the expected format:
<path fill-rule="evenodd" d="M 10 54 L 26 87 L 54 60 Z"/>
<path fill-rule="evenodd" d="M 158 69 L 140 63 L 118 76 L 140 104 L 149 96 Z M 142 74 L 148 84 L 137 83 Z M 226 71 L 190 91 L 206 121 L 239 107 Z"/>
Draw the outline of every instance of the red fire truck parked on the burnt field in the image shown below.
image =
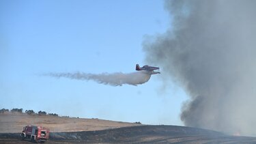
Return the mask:
<path fill-rule="evenodd" d="M 25 126 L 23 127 L 21 137 L 23 140 L 44 143 L 49 139 L 49 132 L 50 130 L 48 128 L 42 126 Z"/>

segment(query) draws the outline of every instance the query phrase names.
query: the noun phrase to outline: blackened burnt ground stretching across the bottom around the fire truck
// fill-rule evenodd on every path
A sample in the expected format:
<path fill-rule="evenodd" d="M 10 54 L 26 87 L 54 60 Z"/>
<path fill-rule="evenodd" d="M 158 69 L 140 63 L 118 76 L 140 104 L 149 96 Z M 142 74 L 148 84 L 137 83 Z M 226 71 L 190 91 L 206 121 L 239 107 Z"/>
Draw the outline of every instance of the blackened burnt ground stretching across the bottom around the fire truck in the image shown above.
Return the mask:
<path fill-rule="evenodd" d="M 21 141 L 20 133 L 0 133 L 0 143 Z M 83 132 L 51 132 L 46 143 L 256 143 L 256 137 L 184 126 L 132 126 Z"/>

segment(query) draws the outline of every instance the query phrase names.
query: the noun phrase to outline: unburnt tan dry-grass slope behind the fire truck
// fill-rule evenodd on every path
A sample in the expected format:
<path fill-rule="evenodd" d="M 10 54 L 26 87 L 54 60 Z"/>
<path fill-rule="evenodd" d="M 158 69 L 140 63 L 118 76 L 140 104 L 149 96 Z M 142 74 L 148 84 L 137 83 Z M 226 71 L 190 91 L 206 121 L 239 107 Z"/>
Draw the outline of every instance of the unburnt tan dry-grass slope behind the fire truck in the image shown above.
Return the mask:
<path fill-rule="evenodd" d="M 44 126 L 50 128 L 51 132 L 78 132 L 138 126 L 139 124 L 102 119 L 27 115 L 25 113 L 0 114 L 0 133 L 21 132 L 26 125 Z"/>

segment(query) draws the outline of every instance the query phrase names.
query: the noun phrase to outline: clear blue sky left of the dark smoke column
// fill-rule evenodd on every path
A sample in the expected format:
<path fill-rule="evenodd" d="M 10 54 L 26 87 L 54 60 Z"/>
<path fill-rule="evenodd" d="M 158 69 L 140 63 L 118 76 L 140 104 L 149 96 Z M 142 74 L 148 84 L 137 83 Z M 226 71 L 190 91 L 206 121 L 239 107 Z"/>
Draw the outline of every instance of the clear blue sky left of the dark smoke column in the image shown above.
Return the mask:
<path fill-rule="evenodd" d="M 164 1 L 0 1 L 0 109 L 182 125 L 186 94 L 152 75 L 143 85 L 40 76 L 134 72 L 145 35 L 171 27 Z M 154 55 L 152 55 L 154 57 Z"/>

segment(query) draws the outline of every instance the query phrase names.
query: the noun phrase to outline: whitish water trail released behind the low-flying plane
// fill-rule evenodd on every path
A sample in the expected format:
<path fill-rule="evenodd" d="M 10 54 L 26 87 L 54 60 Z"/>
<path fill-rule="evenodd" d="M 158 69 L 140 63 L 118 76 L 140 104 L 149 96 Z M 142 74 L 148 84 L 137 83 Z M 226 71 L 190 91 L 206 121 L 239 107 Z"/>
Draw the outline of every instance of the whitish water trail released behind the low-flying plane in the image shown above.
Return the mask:
<path fill-rule="evenodd" d="M 113 74 L 102 73 L 102 74 L 87 74 L 83 72 L 63 72 L 63 73 L 48 73 L 44 74 L 45 76 L 53 76 L 57 78 L 66 77 L 77 80 L 93 80 L 98 83 L 102 83 L 104 85 L 112 85 L 112 86 L 122 86 L 123 84 L 128 85 L 139 85 L 146 83 L 150 80 L 151 74 L 147 74 L 143 70 L 140 72 L 132 72 L 128 74 L 124 74 L 122 72 L 117 72 Z"/>

